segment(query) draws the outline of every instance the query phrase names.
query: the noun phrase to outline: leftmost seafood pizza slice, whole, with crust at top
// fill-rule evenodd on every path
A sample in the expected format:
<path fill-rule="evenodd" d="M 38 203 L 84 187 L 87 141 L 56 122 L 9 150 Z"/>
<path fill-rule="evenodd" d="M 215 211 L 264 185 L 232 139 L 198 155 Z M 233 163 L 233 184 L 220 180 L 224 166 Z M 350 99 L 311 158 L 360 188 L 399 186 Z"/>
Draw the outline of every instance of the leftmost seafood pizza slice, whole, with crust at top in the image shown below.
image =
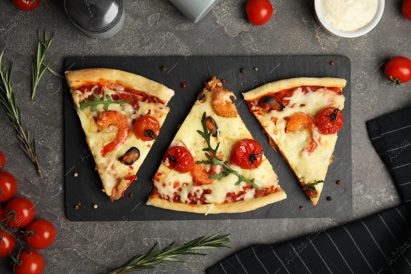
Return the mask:
<path fill-rule="evenodd" d="M 174 91 L 116 69 L 81 69 L 65 76 L 103 191 L 117 200 L 137 179 Z"/>

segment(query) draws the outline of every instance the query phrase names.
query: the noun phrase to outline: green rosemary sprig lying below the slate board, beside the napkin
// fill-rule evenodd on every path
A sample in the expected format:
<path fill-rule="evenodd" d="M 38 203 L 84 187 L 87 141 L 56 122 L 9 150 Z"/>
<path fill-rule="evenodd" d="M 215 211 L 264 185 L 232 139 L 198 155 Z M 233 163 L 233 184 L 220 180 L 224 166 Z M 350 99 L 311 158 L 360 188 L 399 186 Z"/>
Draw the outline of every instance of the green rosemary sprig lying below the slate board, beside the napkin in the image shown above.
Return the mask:
<path fill-rule="evenodd" d="M 168 265 L 165 261 L 187 262 L 185 260 L 174 258 L 180 255 L 207 256 L 207 254 L 204 253 L 189 252 L 192 250 L 219 249 L 221 247 L 228 247 L 231 249 L 231 247 L 224 245 L 224 243 L 231 242 L 231 239 L 229 238 L 230 235 L 227 235 L 226 237 L 217 238 L 217 236 L 219 236 L 221 233 L 222 231 L 217 232 L 214 235 L 208 237 L 207 239 L 204 239 L 205 236 L 199 237 L 191 242 L 188 242 L 187 244 L 182 244 L 177 247 L 174 247 L 175 242 L 173 242 L 166 249 L 155 252 L 155 249 L 158 246 L 157 243 L 149 253 L 135 256 L 132 260 L 127 262 L 127 264 L 123 265 L 118 269 L 113 270 L 108 274 L 123 274 L 137 272 L 143 269 L 153 269 L 155 268 L 154 265 Z"/>

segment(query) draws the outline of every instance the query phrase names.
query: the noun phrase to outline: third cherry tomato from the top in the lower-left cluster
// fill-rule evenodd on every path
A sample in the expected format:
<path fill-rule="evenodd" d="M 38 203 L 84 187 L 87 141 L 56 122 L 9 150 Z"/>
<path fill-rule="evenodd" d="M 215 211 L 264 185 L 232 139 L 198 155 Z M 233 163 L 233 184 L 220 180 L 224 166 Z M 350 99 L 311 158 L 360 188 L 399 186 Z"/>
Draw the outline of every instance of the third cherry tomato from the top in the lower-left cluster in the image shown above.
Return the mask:
<path fill-rule="evenodd" d="M 27 226 L 34 218 L 35 209 L 32 202 L 26 198 L 18 197 L 11 200 L 3 210 L 3 216 L 6 216 L 7 210 L 11 209 L 16 212 L 15 221 L 13 218 L 10 218 L 7 221 L 7 225 L 12 228 L 23 228 Z"/>

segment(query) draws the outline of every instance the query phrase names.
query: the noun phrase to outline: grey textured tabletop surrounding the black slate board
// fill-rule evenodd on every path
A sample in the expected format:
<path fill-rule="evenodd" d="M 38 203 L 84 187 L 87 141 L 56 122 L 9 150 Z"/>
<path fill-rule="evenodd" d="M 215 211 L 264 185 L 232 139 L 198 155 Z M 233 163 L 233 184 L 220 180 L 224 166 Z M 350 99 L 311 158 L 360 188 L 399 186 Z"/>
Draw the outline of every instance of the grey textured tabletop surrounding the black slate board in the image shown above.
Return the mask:
<path fill-rule="evenodd" d="M 313 1 L 309 0 L 272 1 L 274 15 L 263 26 L 249 25 L 245 20 L 246 0 L 221 0 L 197 24 L 166 0 L 132 0 L 126 3 L 122 30 L 102 41 L 76 29 L 61 2 L 43 1 L 18 21 L 13 18 L 20 11 L 11 1 L 3 1 L 0 11 L 0 29 L 6 29 L 0 30 L 0 46 L 6 51 L 5 64 L 14 62 L 12 82 L 18 106 L 24 115 L 23 124 L 36 138 L 44 178 L 37 176 L 16 134 L 9 132 L 3 120 L 0 149 L 8 160 L 5 170 L 18 181 L 16 195 L 37 203 L 35 218 L 48 219 L 57 230 L 55 242 L 40 251 L 46 262 L 44 273 L 104 273 L 136 253 L 145 253 L 155 241 L 163 248 L 173 240 L 182 243 L 215 230 L 232 234 L 229 245 L 233 250 L 212 250 L 206 257 L 187 258 L 186 264 L 171 262 L 168 267 L 145 271 L 204 273 L 207 267 L 252 244 L 307 235 L 322 227 L 325 219 L 70 222 L 64 199 L 64 80 L 46 73 L 35 100 L 30 100 L 31 56 L 37 49 L 37 30 L 56 33 L 46 59 L 53 59 L 52 67 L 60 72 L 65 58 L 79 55 L 346 55 L 352 65 L 353 214 L 332 219 L 327 228 L 399 205 L 392 179 L 367 137 L 365 121 L 411 104 L 411 83 L 396 89 L 385 85 L 383 75 L 383 63 L 390 55 L 411 58 L 411 22 L 400 12 L 401 0 L 387 1 L 376 28 L 353 39 L 333 37 L 319 29 L 313 18 Z M 5 117 L 3 107 L 0 116 Z M 9 262 L 9 257 L 0 259 L 1 273 L 12 273 Z"/>

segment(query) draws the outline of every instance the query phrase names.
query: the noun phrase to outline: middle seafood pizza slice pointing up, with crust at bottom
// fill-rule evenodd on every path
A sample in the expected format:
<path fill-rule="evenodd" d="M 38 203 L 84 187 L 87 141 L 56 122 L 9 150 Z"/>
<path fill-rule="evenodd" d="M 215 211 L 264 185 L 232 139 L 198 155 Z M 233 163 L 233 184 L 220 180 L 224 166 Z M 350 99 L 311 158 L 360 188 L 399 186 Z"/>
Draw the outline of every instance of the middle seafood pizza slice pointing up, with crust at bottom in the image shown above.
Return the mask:
<path fill-rule="evenodd" d="M 164 154 L 147 205 L 236 213 L 286 198 L 230 97 L 217 78 L 205 83 Z"/>

